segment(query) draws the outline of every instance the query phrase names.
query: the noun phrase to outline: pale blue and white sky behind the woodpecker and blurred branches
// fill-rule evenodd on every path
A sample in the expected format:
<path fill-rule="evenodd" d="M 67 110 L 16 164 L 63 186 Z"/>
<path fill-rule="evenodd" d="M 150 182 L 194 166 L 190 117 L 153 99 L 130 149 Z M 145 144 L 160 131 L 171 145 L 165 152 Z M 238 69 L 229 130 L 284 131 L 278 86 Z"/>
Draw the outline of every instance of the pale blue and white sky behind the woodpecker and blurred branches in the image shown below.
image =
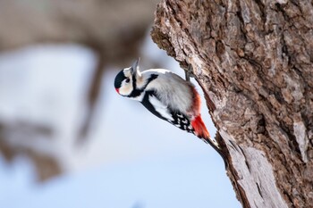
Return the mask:
<path fill-rule="evenodd" d="M 142 53 L 183 76 L 149 40 Z M 116 94 L 114 76 L 121 69 L 107 69 L 88 143 L 73 145 L 95 60 L 88 49 L 73 45 L 0 54 L 0 121 L 55 129 L 44 142 L 10 142 L 54 156 L 65 171 L 38 184 L 30 160 L 19 156 L 7 163 L 0 157 L 0 207 L 241 207 L 223 160 L 210 146 Z M 202 115 L 214 135 L 204 105 Z"/>

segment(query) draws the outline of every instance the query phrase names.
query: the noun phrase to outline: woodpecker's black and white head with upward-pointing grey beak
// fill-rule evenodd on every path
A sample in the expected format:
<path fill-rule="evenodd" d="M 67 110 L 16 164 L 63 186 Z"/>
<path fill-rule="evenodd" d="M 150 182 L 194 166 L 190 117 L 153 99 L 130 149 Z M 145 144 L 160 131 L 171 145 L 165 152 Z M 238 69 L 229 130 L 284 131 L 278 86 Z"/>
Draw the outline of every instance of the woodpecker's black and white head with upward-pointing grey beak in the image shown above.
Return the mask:
<path fill-rule="evenodd" d="M 134 62 L 131 67 L 120 71 L 114 79 L 114 87 L 121 96 L 131 96 L 131 93 L 137 89 L 137 81 L 140 79 L 139 71 L 140 58 Z"/>

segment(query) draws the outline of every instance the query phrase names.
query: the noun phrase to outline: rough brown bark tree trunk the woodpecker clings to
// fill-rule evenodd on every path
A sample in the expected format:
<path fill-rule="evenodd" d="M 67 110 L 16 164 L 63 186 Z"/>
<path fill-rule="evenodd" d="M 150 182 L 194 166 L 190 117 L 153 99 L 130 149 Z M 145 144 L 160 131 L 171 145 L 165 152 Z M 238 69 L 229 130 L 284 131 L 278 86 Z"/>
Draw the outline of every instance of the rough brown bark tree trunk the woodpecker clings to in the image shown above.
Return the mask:
<path fill-rule="evenodd" d="M 162 0 L 151 36 L 193 66 L 243 207 L 313 207 L 313 6 Z"/>

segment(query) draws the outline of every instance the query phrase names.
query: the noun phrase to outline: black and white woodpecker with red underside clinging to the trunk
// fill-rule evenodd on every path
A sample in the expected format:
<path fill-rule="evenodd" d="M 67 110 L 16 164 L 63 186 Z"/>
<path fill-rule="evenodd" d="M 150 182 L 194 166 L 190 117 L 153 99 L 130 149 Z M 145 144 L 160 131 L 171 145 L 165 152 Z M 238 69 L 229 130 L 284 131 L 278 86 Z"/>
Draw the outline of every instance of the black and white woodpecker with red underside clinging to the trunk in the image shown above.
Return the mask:
<path fill-rule="evenodd" d="M 139 101 L 158 118 L 196 135 L 212 146 L 227 166 L 226 157 L 202 121 L 200 96 L 192 83 L 164 69 L 140 72 L 139 62 L 140 59 L 116 75 L 116 92 Z"/>

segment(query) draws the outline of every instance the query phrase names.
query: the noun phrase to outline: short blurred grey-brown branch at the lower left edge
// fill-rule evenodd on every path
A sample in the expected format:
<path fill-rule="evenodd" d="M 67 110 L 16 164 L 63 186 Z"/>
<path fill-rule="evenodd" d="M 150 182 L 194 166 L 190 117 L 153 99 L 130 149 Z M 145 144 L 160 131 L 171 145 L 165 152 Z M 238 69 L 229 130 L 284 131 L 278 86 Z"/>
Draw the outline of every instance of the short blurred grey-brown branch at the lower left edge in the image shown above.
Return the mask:
<path fill-rule="evenodd" d="M 27 155 L 34 162 L 38 180 L 50 179 L 62 172 L 61 166 L 53 157 L 37 151 L 37 139 L 49 138 L 53 129 L 42 124 L 25 121 L 0 123 L 0 152 L 7 161 L 15 155 Z"/>

